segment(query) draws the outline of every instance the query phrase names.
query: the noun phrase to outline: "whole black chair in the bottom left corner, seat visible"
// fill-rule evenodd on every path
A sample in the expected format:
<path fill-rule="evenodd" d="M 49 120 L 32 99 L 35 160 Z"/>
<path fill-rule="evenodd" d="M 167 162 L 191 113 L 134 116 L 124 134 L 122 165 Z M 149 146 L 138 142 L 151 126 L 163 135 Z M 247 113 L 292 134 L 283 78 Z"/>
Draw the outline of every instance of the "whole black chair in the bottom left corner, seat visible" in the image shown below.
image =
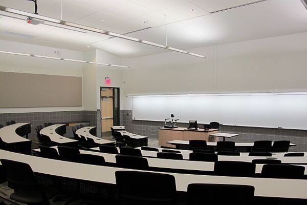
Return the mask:
<path fill-rule="evenodd" d="M 59 194 L 53 187 L 39 185 L 27 163 L 0 160 L 7 173 L 8 187 L 15 191 L 10 195 L 12 200 L 26 204 L 50 204 L 48 200 Z"/>

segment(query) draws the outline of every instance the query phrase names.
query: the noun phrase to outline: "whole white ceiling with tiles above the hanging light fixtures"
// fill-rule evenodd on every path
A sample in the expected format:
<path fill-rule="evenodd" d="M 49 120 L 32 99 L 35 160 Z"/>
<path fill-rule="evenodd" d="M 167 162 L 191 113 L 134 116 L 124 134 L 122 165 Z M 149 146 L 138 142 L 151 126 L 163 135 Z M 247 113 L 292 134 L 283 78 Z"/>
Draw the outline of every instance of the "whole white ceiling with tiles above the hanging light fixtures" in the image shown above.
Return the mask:
<path fill-rule="evenodd" d="M 210 13 L 255 1 L 63 0 L 62 19 L 117 33 L 151 27 L 127 35 L 164 45 L 167 42 L 179 49 L 307 32 L 307 10 L 300 0 L 267 0 Z M 37 2 L 40 15 L 61 18 L 61 0 Z M 0 5 L 34 10 L 33 3 L 26 0 L 0 0 Z M 169 52 L 102 34 L 29 25 L 25 20 L 5 16 L 0 16 L 0 39 L 78 51 L 99 48 L 124 57 Z"/>

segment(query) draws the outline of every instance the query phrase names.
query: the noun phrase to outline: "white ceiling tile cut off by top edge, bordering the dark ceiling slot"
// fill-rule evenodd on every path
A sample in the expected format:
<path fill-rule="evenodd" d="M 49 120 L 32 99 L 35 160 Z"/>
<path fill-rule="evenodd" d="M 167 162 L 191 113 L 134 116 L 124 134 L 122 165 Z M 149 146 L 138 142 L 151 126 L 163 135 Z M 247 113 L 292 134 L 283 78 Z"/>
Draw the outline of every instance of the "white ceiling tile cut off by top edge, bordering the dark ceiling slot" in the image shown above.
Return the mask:
<path fill-rule="evenodd" d="M 239 6 L 251 2 L 256 2 L 255 0 L 195 0 L 192 1 L 193 4 L 205 9 L 208 12 L 218 11 L 226 9 L 229 7 Z"/>

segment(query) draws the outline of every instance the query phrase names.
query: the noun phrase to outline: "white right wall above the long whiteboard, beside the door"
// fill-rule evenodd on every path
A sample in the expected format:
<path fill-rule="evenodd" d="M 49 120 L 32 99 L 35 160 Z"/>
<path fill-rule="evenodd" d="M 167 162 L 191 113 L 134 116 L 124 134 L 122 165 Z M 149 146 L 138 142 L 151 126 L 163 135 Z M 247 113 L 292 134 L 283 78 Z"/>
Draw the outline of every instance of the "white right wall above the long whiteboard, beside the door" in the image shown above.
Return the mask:
<path fill-rule="evenodd" d="M 123 109 L 128 95 L 307 91 L 307 33 L 230 43 L 190 51 L 124 58 Z"/>

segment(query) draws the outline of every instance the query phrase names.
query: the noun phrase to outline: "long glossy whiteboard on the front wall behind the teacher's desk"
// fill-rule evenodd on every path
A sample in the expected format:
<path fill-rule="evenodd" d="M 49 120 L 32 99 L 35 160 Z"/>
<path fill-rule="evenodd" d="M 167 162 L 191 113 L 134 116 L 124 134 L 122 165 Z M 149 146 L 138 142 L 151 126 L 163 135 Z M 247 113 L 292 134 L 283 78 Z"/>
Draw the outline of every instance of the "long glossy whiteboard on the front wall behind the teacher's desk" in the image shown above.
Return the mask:
<path fill-rule="evenodd" d="M 133 119 L 307 129 L 307 93 L 133 96 Z"/>

